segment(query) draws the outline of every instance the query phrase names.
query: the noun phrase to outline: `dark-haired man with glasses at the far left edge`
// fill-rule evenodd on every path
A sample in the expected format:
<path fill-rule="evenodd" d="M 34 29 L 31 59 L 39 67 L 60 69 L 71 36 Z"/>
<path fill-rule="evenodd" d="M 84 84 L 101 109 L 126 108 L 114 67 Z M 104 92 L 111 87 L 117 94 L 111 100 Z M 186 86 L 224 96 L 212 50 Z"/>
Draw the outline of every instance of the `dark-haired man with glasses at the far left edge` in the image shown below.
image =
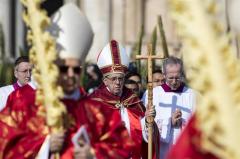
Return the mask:
<path fill-rule="evenodd" d="M 28 56 L 20 56 L 16 59 L 14 76 L 17 82 L 0 88 L 0 110 L 5 107 L 9 94 L 31 81 L 32 67 Z"/>

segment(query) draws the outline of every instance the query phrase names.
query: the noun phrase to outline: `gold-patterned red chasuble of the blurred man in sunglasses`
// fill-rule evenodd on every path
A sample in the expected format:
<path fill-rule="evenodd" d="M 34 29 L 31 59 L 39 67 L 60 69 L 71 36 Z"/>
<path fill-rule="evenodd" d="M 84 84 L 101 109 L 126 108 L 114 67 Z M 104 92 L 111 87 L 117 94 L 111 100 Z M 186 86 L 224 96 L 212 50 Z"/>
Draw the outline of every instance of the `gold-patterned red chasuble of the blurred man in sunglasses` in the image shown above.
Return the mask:
<path fill-rule="evenodd" d="M 34 104 L 35 90 L 26 85 L 13 92 L 0 113 L 0 158 L 33 159 L 49 134 L 43 107 Z M 68 111 L 68 131 L 62 159 L 73 158 L 71 137 L 84 125 L 98 159 L 129 157 L 133 143 L 119 114 L 96 101 L 63 100 Z M 123 144 L 124 143 L 124 144 Z M 127 143 L 127 144 L 126 144 Z M 124 146 L 123 146 L 124 145 Z"/>

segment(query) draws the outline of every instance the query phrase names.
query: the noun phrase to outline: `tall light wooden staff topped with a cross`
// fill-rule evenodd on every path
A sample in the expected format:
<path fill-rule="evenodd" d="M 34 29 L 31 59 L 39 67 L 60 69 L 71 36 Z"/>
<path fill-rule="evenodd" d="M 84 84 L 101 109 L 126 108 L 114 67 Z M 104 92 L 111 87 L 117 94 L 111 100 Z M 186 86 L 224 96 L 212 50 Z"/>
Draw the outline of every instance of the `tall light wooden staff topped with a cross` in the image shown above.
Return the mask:
<path fill-rule="evenodd" d="M 152 85 L 152 60 L 154 59 L 164 59 L 164 57 L 160 57 L 158 55 L 152 55 L 152 45 L 148 44 L 148 54 L 147 55 L 136 55 L 136 59 L 146 60 L 148 65 L 148 105 L 147 110 L 153 109 L 153 85 Z M 147 119 L 147 127 L 148 127 L 148 159 L 152 159 L 152 133 L 153 133 L 153 122 L 154 117 L 150 116 Z"/>

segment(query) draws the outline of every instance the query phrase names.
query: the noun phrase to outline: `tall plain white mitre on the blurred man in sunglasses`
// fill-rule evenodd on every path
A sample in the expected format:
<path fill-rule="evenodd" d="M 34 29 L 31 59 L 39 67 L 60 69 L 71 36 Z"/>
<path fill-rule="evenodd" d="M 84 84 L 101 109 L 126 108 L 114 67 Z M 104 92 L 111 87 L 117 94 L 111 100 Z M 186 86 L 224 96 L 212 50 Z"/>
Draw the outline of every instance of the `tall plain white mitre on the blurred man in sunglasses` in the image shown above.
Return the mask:
<path fill-rule="evenodd" d="M 74 3 L 67 3 L 54 13 L 48 30 L 56 39 L 61 59 L 74 58 L 81 64 L 84 62 L 92 44 L 93 31 L 87 17 Z"/>

